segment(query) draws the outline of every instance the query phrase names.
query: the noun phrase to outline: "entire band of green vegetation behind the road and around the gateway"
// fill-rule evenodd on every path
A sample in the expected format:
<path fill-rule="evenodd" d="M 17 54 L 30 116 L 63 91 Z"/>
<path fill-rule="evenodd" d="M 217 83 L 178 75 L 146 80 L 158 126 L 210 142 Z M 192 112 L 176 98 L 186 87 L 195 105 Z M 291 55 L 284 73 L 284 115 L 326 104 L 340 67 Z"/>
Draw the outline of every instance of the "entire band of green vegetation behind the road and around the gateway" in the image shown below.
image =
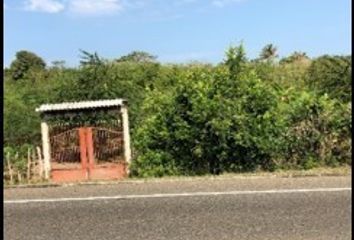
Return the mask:
<path fill-rule="evenodd" d="M 242 44 L 219 64 L 162 64 L 146 52 L 48 66 L 19 51 L 4 70 L 4 159 L 25 171 L 43 103 L 129 101 L 134 177 L 351 166 L 351 56 L 279 59 Z M 6 161 L 4 161 L 4 169 Z"/>

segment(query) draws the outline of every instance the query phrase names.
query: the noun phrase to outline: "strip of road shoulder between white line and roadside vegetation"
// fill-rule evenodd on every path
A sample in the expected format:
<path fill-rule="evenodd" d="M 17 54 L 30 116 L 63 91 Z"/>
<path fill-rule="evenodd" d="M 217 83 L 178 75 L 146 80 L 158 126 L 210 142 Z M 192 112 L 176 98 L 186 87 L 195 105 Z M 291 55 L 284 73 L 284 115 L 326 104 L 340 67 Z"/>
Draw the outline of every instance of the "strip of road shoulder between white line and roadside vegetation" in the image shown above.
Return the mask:
<path fill-rule="evenodd" d="M 184 180 L 121 181 L 104 184 L 73 184 L 47 188 L 8 188 L 5 200 L 74 198 L 190 192 L 256 191 L 279 189 L 351 188 L 351 176 L 243 176 L 189 178 Z"/>

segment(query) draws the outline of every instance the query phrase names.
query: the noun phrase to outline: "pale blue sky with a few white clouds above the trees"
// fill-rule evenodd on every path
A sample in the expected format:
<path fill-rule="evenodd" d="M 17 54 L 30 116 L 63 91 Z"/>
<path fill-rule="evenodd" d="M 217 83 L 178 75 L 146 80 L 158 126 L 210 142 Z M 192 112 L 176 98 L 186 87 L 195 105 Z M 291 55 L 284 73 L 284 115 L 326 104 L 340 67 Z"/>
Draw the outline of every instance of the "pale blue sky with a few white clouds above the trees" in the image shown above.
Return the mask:
<path fill-rule="evenodd" d="M 27 50 L 48 65 L 146 51 L 164 63 L 218 63 L 243 42 L 256 58 L 351 54 L 350 0 L 4 0 L 4 65 Z"/>

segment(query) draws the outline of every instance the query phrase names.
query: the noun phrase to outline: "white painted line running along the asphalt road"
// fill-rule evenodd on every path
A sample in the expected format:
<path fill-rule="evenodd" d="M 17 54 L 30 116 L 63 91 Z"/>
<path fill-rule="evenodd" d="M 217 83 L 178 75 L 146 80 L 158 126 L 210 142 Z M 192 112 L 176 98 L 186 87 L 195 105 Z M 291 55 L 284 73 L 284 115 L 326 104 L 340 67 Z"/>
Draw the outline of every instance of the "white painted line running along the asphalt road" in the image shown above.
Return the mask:
<path fill-rule="evenodd" d="M 167 197 L 194 197 L 194 196 L 219 196 L 219 195 L 247 195 L 247 194 L 271 194 L 271 193 L 304 193 L 304 192 L 339 192 L 351 191 L 352 188 L 310 188 L 310 189 L 274 189 L 254 191 L 228 191 L 228 192 L 191 192 L 191 193 L 156 193 L 142 195 L 116 195 L 116 196 L 95 196 L 78 198 L 44 198 L 44 199 L 20 199 L 5 200 L 4 203 L 43 203 L 43 202 L 71 202 L 71 201 L 95 201 L 112 199 L 134 199 L 134 198 L 167 198 Z"/>

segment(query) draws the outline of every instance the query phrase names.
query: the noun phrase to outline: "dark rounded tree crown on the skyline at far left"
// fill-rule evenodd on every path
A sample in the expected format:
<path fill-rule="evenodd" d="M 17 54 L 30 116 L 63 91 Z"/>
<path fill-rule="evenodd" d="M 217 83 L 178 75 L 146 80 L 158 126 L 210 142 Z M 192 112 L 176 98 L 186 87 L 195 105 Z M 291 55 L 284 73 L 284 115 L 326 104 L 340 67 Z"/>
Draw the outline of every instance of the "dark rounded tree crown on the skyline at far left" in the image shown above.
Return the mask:
<path fill-rule="evenodd" d="M 29 72 L 44 70 L 45 66 L 44 60 L 35 53 L 25 50 L 19 51 L 16 53 L 16 59 L 10 65 L 12 79 L 25 78 Z"/>

